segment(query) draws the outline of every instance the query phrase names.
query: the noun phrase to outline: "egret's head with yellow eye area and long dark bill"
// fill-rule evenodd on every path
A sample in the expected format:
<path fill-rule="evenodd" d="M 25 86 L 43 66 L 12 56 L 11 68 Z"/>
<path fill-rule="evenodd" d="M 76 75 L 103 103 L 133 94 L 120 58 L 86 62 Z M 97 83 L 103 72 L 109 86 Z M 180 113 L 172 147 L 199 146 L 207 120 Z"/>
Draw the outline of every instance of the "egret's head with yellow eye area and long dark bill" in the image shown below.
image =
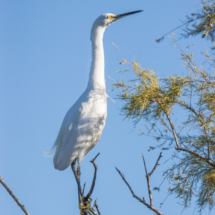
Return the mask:
<path fill-rule="evenodd" d="M 110 24 L 116 22 L 117 20 L 119 20 L 119 19 L 121 19 L 123 17 L 126 17 L 128 15 L 132 15 L 132 14 L 135 14 L 135 13 L 139 13 L 139 12 L 142 12 L 142 10 L 132 11 L 132 12 L 128 12 L 128 13 L 122 13 L 122 14 L 118 14 L 118 15 L 115 15 L 115 14 L 112 14 L 112 13 L 105 13 L 105 14 L 99 16 L 95 20 L 94 26 L 101 26 L 101 27 L 106 28 Z"/>

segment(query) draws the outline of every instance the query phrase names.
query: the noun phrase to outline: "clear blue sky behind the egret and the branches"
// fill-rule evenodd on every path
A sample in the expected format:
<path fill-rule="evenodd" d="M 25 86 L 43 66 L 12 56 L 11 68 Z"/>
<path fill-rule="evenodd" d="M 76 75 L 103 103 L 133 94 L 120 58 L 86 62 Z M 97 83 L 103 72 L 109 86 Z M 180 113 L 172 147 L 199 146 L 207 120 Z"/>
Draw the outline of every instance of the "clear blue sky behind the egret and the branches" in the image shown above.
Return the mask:
<path fill-rule="evenodd" d="M 91 63 L 90 29 L 103 13 L 144 10 L 109 26 L 104 35 L 105 77 L 119 79 L 117 70 L 124 60 L 117 44 L 129 59 L 143 68 L 152 67 L 161 76 L 184 71 L 179 51 L 168 37 L 160 44 L 155 39 L 180 25 L 187 14 L 195 12 L 199 0 L 0 0 L 0 175 L 31 215 L 78 214 L 77 186 L 70 168 L 56 171 L 52 156 L 45 158 L 59 131 L 62 119 L 85 90 Z M 174 32 L 179 37 L 180 30 Z M 178 36 L 177 36 L 178 35 Z M 180 40 L 184 48 L 194 43 L 199 49 L 205 41 L 200 37 Z M 201 61 L 200 61 L 201 62 Z M 125 74 L 126 75 L 126 74 Z M 110 89 L 107 84 L 107 89 Z M 115 97 L 116 92 L 109 92 Z M 140 136 L 139 127 L 123 121 L 119 115 L 121 102 L 108 101 L 108 117 L 103 135 L 82 162 L 82 182 L 89 189 L 97 158 L 98 176 L 93 199 L 105 214 L 153 214 L 133 199 L 115 166 L 126 176 L 135 193 L 148 201 L 141 155 L 152 168 L 159 150 L 148 152 L 156 142 Z M 164 153 L 161 164 L 169 158 Z M 163 179 L 159 166 L 151 184 Z M 160 193 L 154 192 L 159 209 L 167 193 L 168 183 Z M 170 196 L 160 208 L 164 214 L 180 215 L 183 207 Z M 183 212 L 190 215 L 194 204 Z M 196 210 L 197 211 L 197 210 Z M 0 186 L 0 214 L 22 215 L 14 200 Z M 194 212 L 196 214 L 196 212 Z"/>

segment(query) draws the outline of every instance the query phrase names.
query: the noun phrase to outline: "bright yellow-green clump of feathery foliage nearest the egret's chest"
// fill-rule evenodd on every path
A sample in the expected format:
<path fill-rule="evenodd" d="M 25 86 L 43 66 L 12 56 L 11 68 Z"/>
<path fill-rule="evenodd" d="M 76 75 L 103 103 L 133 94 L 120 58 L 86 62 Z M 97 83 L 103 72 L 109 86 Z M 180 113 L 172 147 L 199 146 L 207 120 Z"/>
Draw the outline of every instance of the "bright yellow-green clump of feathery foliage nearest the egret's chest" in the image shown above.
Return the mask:
<path fill-rule="evenodd" d="M 135 80 L 130 80 L 129 85 L 122 81 L 114 83 L 117 88 L 122 88 L 120 98 L 126 101 L 122 109 L 126 117 L 134 116 L 135 119 L 140 119 L 143 114 L 152 114 L 153 117 L 159 118 L 161 114 L 168 113 L 172 105 L 180 102 L 188 77 L 174 75 L 159 80 L 153 70 L 143 69 L 136 62 L 132 62 L 132 65 L 137 76 L 135 84 L 132 84 Z"/>

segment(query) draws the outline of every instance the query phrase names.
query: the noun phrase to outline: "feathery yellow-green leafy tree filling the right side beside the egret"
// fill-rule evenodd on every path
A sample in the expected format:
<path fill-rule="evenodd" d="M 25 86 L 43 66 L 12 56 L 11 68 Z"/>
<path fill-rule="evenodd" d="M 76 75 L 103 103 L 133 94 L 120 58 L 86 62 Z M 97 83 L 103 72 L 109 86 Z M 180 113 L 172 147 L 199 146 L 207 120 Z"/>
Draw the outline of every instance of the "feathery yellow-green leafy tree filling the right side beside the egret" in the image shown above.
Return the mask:
<path fill-rule="evenodd" d="M 202 1 L 200 8 L 187 16 L 182 36 L 187 38 L 201 33 L 203 38 L 214 41 L 215 3 Z M 174 148 L 174 163 L 164 171 L 171 184 L 168 192 L 175 193 L 185 208 L 196 196 L 201 213 L 206 206 L 211 210 L 215 205 L 215 57 L 206 50 L 200 51 L 209 65 L 206 70 L 197 66 L 189 47 L 182 50 L 174 34 L 172 40 L 184 61 L 185 75 L 159 78 L 153 70 L 143 69 L 138 62 L 126 59 L 122 64 L 128 65 L 126 71 L 133 71 L 135 78 L 127 82 L 113 81 L 113 85 L 114 89 L 120 89 L 118 98 L 124 102 L 121 112 L 125 118 L 131 118 L 134 124 L 140 120 L 148 122 L 149 127 L 142 134 L 158 142 L 151 150 Z M 177 112 L 183 117 L 177 116 Z M 159 187 L 154 189 L 159 190 Z"/>

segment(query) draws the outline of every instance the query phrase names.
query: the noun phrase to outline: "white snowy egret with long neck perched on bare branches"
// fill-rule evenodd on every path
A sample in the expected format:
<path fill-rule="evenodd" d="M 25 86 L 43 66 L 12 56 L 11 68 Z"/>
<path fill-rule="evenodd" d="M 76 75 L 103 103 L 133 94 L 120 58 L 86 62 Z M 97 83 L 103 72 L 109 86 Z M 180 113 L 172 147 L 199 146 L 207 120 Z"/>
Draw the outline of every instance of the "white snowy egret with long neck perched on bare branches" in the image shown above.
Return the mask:
<path fill-rule="evenodd" d="M 99 141 L 107 117 L 103 34 L 110 24 L 141 11 L 119 15 L 106 13 L 99 16 L 93 23 L 90 38 L 92 63 L 88 85 L 84 93 L 68 110 L 53 146 L 55 169 L 65 170 L 69 165 L 72 167 L 79 188 L 79 204 L 83 197 L 80 186 L 80 164 L 84 156 Z M 76 160 L 78 161 L 77 171 L 75 171 Z"/>

